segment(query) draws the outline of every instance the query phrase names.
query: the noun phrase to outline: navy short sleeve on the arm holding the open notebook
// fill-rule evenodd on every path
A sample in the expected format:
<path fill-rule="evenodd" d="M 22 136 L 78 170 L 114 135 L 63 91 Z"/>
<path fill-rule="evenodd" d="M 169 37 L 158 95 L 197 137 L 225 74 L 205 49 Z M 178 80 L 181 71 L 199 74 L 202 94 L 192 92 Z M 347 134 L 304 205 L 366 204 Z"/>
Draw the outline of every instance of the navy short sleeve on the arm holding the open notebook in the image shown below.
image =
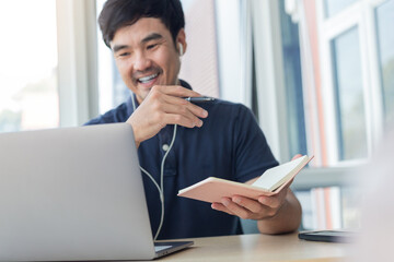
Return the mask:
<path fill-rule="evenodd" d="M 235 180 L 246 182 L 278 165 L 252 111 L 240 105 L 234 122 Z"/>

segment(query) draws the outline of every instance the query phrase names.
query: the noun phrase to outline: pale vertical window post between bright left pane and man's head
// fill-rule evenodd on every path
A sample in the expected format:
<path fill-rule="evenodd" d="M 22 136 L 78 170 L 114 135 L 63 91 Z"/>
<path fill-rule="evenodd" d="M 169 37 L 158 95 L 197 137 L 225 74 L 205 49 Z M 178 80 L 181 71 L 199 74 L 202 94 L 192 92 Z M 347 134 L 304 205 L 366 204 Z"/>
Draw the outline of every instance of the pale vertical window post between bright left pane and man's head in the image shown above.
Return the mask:
<path fill-rule="evenodd" d="M 95 0 L 56 0 L 60 127 L 99 114 Z"/>

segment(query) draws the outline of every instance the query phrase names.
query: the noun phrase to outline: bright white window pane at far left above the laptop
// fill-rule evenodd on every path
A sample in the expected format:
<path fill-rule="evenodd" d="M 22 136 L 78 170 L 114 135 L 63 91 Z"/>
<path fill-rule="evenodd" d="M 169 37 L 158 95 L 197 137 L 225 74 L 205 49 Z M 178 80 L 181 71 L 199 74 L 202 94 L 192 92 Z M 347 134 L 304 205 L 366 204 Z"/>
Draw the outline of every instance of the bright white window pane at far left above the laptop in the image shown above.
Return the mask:
<path fill-rule="evenodd" d="M 59 124 L 56 1 L 1 3 L 0 132 Z"/>

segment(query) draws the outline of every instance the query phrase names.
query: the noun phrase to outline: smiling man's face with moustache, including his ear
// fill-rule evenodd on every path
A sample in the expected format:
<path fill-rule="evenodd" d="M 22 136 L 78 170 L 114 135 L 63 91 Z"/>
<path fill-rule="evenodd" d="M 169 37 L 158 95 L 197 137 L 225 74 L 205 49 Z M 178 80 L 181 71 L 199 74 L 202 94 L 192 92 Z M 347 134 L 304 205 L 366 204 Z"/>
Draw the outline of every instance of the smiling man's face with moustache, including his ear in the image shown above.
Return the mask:
<path fill-rule="evenodd" d="M 184 29 L 179 31 L 176 41 L 176 45 L 186 44 Z M 143 17 L 119 28 L 111 48 L 121 79 L 139 103 L 154 85 L 177 84 L 179 55 L 170 31 L 159 19 Z"/>

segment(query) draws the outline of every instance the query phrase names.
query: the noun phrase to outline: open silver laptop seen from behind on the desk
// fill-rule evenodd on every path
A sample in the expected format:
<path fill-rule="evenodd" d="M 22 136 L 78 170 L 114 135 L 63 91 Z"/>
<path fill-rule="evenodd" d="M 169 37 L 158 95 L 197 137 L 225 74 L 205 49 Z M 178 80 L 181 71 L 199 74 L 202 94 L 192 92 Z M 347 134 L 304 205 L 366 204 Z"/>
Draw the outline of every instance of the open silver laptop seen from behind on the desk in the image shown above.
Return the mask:
<path fill-rule="evenodd" d="M 0 261 L 150 260 L 193 242 L 160 245 L 129 124 L 0 134 Z"/>

